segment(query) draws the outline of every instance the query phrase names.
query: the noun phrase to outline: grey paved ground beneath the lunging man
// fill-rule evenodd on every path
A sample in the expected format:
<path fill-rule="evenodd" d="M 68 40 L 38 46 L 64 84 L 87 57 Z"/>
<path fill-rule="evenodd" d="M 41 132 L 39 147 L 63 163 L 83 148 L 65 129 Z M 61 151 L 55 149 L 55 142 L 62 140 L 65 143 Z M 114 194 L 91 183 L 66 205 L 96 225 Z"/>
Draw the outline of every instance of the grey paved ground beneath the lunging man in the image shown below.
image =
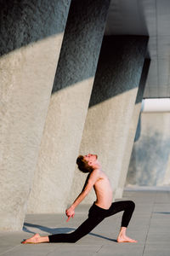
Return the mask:
<path fill-rule="evenodd" d="M 122 213 L 105 219 L 76 244 L 20 244 L 23 238 L 30 237 L 35 232 L 46 235 L 74 230 L 88 214 L 88 207 L 79 207 L 75 218 L 69 223 L 65 222 L 64 215 L 59 214 L 27 215 L 22 232 L 0 233 L 0 255 L 169 256 L 170 191 L 127 190 L 122 200 L 136 202 L 136 209 L 127 235 L 137 239 L 139 241 L 137 244 L 116 242 Z"/>

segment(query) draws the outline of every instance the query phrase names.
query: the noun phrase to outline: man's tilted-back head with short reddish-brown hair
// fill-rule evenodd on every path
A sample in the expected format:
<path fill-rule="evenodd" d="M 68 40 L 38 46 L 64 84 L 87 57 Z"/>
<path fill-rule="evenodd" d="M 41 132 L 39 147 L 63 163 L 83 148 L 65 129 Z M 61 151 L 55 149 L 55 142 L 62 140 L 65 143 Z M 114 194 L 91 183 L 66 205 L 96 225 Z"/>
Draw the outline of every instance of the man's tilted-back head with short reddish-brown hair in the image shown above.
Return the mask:
<path fill-rule="evenodd" d="M 77 157 L 78 169 L 82 172 L 92 172 L 95 169 L 94 164 L 97 158 L 97 154 L 79 155 Z"/>

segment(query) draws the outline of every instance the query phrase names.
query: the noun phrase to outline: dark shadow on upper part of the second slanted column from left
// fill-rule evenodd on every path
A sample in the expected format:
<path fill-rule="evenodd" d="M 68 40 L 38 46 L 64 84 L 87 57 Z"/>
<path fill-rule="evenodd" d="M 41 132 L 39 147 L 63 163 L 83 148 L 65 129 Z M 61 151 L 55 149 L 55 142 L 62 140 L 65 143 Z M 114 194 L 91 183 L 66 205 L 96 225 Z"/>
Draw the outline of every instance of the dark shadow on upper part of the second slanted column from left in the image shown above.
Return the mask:
<path fill-rule="evenodd" d="M 110 0 L 73 0 L 52 94 L 94 78 Z"/>

